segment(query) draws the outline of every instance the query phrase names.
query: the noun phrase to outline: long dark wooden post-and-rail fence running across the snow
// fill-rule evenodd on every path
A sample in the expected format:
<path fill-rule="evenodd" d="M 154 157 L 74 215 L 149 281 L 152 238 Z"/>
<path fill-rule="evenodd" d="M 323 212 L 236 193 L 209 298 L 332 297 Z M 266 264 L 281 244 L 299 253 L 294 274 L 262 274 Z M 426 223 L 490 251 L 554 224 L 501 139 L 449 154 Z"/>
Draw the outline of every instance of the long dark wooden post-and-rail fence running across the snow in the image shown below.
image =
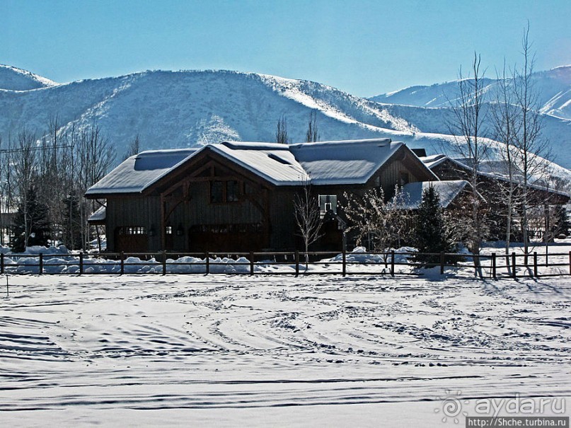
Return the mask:
<path fill-rule="evenodd" d="M 0 274 L 387 274 L 394 277 L 426 273 L 410 269 L 418 267 L 434 270 L 439 267 L 440 275 L 458 273 L 458 270 L 446 272 L 447 268 L 471 267 L 475 273 L 493 279 L 563 276 L 571 275 L 571 251 L 509 255 L 396 251 L 0 254 Z"/>

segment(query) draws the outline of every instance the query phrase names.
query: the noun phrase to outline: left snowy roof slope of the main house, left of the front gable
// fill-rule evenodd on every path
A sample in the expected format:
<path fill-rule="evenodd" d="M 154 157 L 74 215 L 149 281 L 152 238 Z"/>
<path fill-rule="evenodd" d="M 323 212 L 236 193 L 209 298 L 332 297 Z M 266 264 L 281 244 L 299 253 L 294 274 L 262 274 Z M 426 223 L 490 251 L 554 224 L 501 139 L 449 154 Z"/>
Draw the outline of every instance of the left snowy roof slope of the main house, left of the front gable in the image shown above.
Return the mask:
<path fill-rule="evenodd" d="M 120 166 L 91 186 L 86 195 L 142 192 L 196 151 L 197 149 L 143 151 L 127 158 Z"/>

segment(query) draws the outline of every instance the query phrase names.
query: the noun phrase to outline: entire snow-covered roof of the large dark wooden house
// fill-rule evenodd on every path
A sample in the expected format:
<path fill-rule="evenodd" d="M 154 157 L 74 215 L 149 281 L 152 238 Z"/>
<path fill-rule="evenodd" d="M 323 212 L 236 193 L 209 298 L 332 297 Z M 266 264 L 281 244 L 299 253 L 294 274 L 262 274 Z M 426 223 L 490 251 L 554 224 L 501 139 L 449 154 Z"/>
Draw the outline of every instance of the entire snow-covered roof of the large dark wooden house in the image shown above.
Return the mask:
<path fill-rule="evenodd" d="M 393 156 L 400 142 L 390 139 L 302 144 L 226 141 L 202 149 L 144 151 L 93 185 L 88 196 L 139 193 L 202 151 L 212 151 L 273 185 L 364 184 Z M 436 176 L 435 176 L 436 178 Z"/>

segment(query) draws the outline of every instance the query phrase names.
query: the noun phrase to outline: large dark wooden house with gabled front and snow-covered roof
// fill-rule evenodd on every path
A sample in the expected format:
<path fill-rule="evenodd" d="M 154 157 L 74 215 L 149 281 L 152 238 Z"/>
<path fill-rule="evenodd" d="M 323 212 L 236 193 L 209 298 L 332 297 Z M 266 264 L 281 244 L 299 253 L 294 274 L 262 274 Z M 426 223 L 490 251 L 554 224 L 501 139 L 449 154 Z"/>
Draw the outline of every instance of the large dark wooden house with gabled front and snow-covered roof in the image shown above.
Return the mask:
<path fill-rule="evenodd" d="M 311 183 L 322 212 L 343 192 L 438 178 L 390 139 L 304 144 L 223 142 L 201 149 L 144 151 L 87 192 L 105 199 L 108 249 L 251 251 L 299 247 L 294 199 Z M 334 216 L 330 216 L 335 218 Z M 338 221 L 326 222 L 319 248 L 340 250 Z"/>

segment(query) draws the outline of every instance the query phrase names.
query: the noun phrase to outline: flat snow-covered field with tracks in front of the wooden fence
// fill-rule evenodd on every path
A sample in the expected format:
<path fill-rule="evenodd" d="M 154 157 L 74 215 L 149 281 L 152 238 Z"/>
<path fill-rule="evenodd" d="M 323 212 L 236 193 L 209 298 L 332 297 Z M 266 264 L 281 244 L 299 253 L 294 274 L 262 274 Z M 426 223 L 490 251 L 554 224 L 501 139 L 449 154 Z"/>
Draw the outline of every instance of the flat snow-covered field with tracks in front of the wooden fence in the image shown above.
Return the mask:
<path fill-rule="evenodd" d="M 2 427 L 445 427 L 449 396 L 469 415 L 516 394 L 571 406 L 571 277 L 8 282 Z"/>

